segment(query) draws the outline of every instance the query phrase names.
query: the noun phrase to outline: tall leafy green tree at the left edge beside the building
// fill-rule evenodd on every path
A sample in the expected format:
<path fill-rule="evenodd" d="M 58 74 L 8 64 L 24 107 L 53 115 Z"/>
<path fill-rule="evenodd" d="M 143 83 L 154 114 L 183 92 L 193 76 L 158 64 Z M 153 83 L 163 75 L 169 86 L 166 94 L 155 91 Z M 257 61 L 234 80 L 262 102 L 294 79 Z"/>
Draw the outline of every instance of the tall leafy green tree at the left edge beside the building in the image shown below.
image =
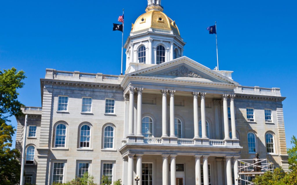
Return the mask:
<path fill-rule="evenodd" d="M 20 164 L 17 158 L 20 153 L 12 146 L 12 135 L 15 129 L 8 118 L 12 115 L 20 116 L 23 104 L 18 101 L 17 89 L 22 88 L 22 80 L 26 78 L 23 71 L 16 72 L 12 67 L 0 71 L 0 184 L 13 185 L 20 181 Z"/>

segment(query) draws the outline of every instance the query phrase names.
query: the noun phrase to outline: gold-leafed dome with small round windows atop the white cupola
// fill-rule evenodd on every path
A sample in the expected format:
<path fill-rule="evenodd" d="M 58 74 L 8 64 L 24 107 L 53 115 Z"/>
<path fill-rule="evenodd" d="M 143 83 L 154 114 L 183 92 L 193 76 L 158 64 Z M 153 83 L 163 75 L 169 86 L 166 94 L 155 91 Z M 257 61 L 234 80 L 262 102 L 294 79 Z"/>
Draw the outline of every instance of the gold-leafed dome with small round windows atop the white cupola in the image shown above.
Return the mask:
<path fill-rule="evenodd" d="M 180 36 L 179 30 L 175 21 L 170 19 L 165 13 L 158 10 L 150 10 L 140 15 L 135 23 L 132 23 L 131 32 L 145 30 L 148 28 L 156 28 L 161 30 L 173 30 L 173 32 Z"/>

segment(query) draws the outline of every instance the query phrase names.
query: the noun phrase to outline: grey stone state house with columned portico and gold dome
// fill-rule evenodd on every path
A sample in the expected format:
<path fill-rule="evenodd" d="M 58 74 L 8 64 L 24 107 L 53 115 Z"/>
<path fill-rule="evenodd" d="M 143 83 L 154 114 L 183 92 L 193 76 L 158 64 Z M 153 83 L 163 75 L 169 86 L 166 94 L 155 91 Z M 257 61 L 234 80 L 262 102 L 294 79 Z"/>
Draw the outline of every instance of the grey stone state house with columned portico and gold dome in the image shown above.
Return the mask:
<path fill-rule="evenodd" d="M 46 69 L 42 107 L 23 107 L 24 183 L 87 172 L 124 185 L 232 185 L 255 153 L 288 169 L 279 88 L 239 85 L 183 55 L 186 43 L 161 0 L 148 1 L 127 38 L 124 75 Z M 240 73 L 240 71 L 236 71 Z M 236 79 L 235 79 L 236 80 Z"/>

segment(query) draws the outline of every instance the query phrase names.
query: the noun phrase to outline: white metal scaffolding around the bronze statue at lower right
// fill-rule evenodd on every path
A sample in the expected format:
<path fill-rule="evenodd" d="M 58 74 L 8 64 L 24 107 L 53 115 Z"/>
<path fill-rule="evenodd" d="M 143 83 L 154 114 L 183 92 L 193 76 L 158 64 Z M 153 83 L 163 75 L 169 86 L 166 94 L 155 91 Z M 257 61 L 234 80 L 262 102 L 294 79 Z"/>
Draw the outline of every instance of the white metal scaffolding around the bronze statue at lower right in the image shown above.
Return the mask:
<path fill-rule="evenodd" d="M 261 165 L 258 165 L 261 164 Z M 258 168 L 260 171 L 255 171 Z M 263 175 L 266 171 L 273 172 L 274 165 L 267 159 L 258 159 L 254 163 L 254 159 L 238 159 L 238 184 L 254 185 L 252 179 L 257 175 Z"/>

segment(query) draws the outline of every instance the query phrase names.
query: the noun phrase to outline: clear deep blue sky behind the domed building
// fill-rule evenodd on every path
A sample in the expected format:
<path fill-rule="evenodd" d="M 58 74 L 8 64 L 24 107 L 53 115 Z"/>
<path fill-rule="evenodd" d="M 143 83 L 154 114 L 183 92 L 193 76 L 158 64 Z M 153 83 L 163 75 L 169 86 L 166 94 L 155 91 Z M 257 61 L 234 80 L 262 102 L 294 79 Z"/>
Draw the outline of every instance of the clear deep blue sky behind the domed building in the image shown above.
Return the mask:
<path fill-rule="evenodd" d="M 125 41 L 146 5 L 146 0 L 1 1 L 0 68 L 26 72 L 19 100 L 36 107 L 46 68 L 118 75 L 121 32 L 113 32 L 112 23 L 119 23 L 124 8 Z M 290 147 L 291 136 L 297 136 L 296 1 L 162 0 L 162 6 L 187 42 L 185 56 L 216 66 L 215 35 L 206 28 L 217 21 L 219 69 L 234 71 L 233 80 L 244 86 L 281 88 Z"/>

